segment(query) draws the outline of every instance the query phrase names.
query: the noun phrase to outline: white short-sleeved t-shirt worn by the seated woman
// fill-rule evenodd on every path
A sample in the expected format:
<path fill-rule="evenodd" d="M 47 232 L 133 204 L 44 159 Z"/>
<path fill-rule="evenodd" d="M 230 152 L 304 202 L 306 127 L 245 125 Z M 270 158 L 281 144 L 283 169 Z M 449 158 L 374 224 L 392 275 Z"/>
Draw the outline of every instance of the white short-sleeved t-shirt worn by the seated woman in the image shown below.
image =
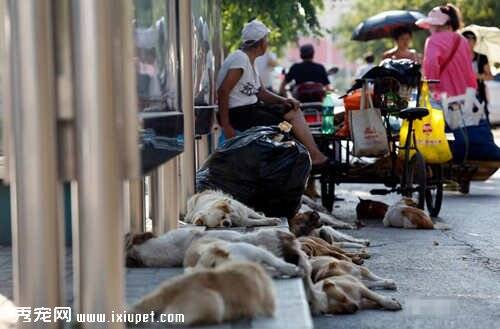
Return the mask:
<path fill-rule="evenodd" d="M 248 55 L 241 50 L 236 50 L 224 60 L 217 75 L 217 89 L 230 69 L 242 69 L 243 75 L 229 93 L 229 108 L 257 103 L 257 93 L 260 89 L 259 74 L 252 67 Z"/>

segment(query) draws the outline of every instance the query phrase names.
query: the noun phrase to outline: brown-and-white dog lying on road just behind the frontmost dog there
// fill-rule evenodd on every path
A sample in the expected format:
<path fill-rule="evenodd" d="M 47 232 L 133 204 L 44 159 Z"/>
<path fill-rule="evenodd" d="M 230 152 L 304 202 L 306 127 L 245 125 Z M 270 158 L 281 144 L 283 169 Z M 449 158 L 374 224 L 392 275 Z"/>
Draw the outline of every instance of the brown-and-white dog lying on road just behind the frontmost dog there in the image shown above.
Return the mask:
<path fill-rule="evenodd" d="M 318 282 L 332 276 L 349 274 L 360 280 L 369 289 L 396 290 L 396 283 L 391 279 L 384 279 L 368 268 L 353 264 L 352 262 L 336 259 L 328 256 L 312 257 L 311 275 L 313 282 Z"/>

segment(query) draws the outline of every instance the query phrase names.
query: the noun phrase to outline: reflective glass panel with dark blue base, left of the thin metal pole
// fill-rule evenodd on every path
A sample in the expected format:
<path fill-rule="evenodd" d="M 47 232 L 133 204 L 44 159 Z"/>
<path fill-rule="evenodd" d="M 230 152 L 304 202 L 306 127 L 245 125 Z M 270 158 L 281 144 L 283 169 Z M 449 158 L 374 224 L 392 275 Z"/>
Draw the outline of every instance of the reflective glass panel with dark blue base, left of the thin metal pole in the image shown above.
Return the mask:
<path fill-rule="evenodd" d="M 135 0 L 134 4 L 141 156 L 147 172 L 184 149 L 176 1 Z"/>

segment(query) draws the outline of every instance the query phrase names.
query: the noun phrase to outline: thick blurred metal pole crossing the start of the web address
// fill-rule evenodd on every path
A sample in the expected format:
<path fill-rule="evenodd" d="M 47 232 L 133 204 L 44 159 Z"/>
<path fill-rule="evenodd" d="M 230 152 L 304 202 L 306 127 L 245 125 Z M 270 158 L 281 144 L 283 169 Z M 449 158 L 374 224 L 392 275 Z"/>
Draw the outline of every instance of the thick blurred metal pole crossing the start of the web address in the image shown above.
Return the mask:
<path fill-rule="evenodd" d="M 112 24 L 119 1 L 73 2 L 80 221 L 80 308 L 124 309 L 123 190 Z M 132 36 L 131 36 L 132 37 Z M 132 63 L 132 60 L 131 62 Z M 83 324 L 95 328 L 95 323 Z M 123 323 L 100 323 L 123 328 Z"/>

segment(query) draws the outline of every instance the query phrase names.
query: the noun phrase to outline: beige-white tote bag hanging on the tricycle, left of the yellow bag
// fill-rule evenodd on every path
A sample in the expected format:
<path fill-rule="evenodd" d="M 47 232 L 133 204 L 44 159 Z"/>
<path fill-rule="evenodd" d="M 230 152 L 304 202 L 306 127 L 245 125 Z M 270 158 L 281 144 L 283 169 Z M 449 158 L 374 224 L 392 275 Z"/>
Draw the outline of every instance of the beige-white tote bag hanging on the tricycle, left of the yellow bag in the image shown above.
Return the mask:
<path fill-rule="evenodd" d="M 380 109 L 373 107 L 366 86 L 361 94 L 358 111 L 349 112 L 349 128 L 355 156 L 381 157 L 389 153 L 387 132 L 382 121 Z"/>

